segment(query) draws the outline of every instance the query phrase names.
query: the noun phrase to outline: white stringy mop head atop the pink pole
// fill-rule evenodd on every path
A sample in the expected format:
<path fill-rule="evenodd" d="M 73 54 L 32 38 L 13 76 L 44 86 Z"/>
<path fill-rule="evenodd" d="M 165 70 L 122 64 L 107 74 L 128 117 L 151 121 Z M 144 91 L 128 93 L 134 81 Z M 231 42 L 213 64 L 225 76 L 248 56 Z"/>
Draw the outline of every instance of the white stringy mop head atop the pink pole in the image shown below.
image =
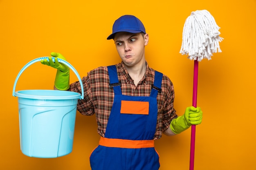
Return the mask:
<path fill-rule="evenodd" d="M 212 53 L 221 52 L 219 42 L 220 27 L 207 10 L 198 10 L 191 13 L 186 19 L 180 53 L 189 55 L 190 60 L 211 60 Z"/>

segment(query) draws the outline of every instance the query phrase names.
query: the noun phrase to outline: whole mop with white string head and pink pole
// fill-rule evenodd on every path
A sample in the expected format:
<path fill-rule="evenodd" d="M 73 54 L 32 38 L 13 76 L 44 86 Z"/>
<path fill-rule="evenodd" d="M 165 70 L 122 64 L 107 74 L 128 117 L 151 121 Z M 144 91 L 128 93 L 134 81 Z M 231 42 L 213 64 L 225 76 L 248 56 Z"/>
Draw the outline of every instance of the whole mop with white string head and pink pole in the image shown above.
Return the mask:
<path fill-rule="evenodd" d="M 192 106 L 197 107 L 198 89 L 198 62 L 203 59 L 211 60 L 213 53 L 221 52 L 219 42 L 220 27 L 216 24 L 213 16 L 207 10 L 198 10 L 191 13 L 186 19 L 180 53 L 189 55 L 190 60 L 194 60 L 193 75 L 193 102 Z M 195 125 L 191 126 L 191 148 L 189 170 L 194 169 L 195 158 Z"/>

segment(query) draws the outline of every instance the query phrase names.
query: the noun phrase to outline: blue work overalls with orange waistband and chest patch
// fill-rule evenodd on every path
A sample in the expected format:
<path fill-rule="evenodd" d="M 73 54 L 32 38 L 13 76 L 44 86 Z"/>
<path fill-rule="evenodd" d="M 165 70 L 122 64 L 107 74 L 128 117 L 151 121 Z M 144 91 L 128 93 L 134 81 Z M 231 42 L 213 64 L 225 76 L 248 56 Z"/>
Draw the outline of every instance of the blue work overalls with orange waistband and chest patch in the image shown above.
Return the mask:
<path fill-rule="evenodd" d="M 149 97 L 122 95 L 116 66 L 108 66 L 108 73 L 115 97 L 105 137 L 90 156 L 92 170 L 158 170 L 153 138 L 162 73 L 155 71 Z"/>

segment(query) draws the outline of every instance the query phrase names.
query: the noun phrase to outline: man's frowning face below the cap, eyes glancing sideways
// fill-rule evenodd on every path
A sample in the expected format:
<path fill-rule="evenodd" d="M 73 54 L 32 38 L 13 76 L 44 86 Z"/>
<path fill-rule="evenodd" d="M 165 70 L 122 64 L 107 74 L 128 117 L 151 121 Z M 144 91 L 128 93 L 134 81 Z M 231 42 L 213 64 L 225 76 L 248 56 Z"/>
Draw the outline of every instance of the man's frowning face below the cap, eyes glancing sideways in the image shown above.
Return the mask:
<path fill-rule="evenodd" d="M 121 60 L 126 66 L 145 64 L 145 46 L 148 34 L 119 32 L 115 34 L 115 45 Z"/>

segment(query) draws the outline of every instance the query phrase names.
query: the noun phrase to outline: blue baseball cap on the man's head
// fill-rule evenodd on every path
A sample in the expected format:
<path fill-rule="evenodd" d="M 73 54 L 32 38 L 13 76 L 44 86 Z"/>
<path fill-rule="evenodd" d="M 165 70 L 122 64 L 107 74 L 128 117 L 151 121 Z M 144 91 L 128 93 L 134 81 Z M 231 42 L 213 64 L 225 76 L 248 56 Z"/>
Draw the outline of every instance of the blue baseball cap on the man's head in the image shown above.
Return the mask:
<path fill-rule="evenodd" d="M 112 34 L 107 40 L 115 38 L 115 33 L 128 32 L 128 33 L 146 33 L 145 27 L 142 22 L 133 15 L 124 15 L 118 18 L 113 24 Z"/>

